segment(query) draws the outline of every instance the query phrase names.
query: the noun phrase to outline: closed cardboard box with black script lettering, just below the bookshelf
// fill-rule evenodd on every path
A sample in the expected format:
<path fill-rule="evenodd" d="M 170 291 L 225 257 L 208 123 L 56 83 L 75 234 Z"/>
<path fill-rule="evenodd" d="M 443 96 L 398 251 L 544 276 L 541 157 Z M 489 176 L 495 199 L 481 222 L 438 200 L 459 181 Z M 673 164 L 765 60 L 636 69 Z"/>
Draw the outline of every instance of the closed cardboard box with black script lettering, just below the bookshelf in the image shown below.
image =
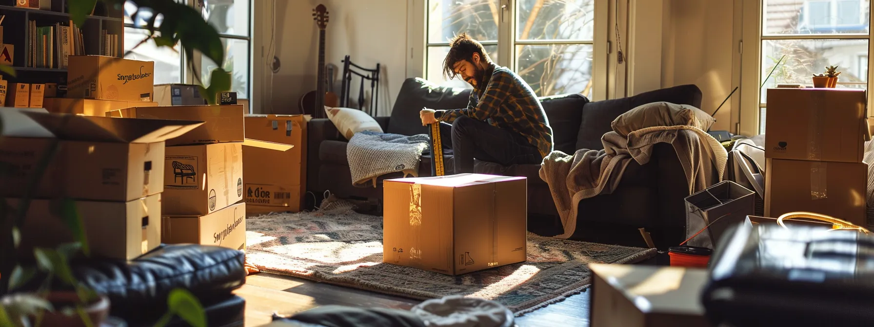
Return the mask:
<path fill-rule="evenodd" d="M 70 56 L 67 98 L 152 101 L 155 62 L 105 56 Z"/>

